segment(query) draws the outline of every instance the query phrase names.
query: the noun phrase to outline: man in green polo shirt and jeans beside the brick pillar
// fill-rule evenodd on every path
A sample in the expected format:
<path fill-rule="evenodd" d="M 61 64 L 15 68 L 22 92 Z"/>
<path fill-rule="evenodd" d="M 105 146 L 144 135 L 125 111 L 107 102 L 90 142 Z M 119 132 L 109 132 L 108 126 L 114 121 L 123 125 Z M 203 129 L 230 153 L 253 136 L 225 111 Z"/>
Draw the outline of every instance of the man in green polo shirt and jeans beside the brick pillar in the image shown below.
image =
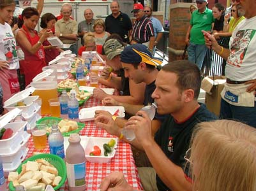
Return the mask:
<path fill-rule="evenodd" d="M 196 3 L 198 10 L 192 13 L 190 25 L 186 32 L 186 45 L 188 45 L 188 60 L 197 64 L 201 69 L 207 50 L 201 31 L 211 31 L 215 18 L 212 11 L 206 7 L 207 0 L 197 0 Z"/>

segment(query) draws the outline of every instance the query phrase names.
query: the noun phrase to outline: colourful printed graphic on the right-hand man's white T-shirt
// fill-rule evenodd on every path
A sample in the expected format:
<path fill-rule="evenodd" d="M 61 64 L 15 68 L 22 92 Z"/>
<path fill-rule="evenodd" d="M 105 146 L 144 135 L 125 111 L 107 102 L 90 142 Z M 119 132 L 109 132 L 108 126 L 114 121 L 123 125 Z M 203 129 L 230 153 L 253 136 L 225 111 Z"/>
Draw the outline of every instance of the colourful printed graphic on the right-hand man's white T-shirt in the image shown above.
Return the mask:
<path fill-rule="evenodd" d="M 230 46 L 230 55 L 227 59 L 227 64 L 241 67 L 241 64 L 243 64 L 243 59 L 246 55 L 248 45 L 255 35 L 255 32 L 256 31 L 253 29 L 237 31 L 236 37 Z"/>

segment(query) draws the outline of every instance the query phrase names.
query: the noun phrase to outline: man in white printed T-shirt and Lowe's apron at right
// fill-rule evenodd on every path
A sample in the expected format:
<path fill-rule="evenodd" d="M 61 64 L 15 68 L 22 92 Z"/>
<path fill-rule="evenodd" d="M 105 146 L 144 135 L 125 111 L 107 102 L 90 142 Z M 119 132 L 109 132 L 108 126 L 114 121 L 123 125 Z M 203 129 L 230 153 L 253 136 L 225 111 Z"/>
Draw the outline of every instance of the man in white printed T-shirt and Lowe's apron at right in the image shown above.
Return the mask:
<path fill-rule="evenodd" d="M 234 118 L 256 128 L 256 1 L 237 0 L 234 4 L 245 11 L 245 19 L 234 29 L 229 49 L 218 45 L 204 31 L 206 45 L 227 60 L 227 81 L 221 93 L 221 118 Z"/>

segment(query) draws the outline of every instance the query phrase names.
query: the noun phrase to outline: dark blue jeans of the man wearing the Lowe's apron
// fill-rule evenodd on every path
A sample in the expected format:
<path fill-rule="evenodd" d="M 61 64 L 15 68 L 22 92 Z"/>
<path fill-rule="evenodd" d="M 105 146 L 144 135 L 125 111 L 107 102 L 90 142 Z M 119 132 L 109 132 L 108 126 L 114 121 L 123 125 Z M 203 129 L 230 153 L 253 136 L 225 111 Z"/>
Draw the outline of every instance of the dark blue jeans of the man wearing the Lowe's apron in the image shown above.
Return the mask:
<path fill-rule="evenodd" d="M 239 120 L 256 128 L 256 102 L 254 107 L 233 106 L 224 99 L 220 103 L 220 118 Z"/>

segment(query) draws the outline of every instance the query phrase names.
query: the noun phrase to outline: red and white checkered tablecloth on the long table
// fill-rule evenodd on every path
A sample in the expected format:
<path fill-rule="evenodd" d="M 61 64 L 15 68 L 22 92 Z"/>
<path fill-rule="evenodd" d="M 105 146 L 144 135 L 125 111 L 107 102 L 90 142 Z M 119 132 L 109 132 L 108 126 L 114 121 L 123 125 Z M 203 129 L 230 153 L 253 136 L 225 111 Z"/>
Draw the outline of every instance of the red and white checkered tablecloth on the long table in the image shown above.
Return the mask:
<path fill-rule="evenodd" d="M 101 102 L 91 97 L 82 106 L 82 108 L 88 108 L 93 106 L 100 106 Z M 93 121 L 85 122 L 85 127 L 79 132 L 80 136 L 94 136 L 94 137 L 113 137 L 108 134 L 104 129 L 99 129 L 96 127 Z M 29 139 L 28 143 L 29 152 L 27 153 L 27 158 L 33 155 L 33 152 L 43 152 L 49 153 L 49 146 L 44 150 L 36 150 L 33 145 L 32 137 Z M 118 140 L 116 155 L 112 158 L 109 163 L 90 163 L 86 162 L 86 190 L 100 190 L 100 183 L 105 176 L 114 171 L 121 171 L 126 180 L 133 188 L 142 190 L 142 185 L 140 184 L 137 167 L 135 166 L 135 161 L 132 155 L 132 149 L 130 144 L 124 141 Z M 68 183 L 66 181 L 65 185 L 59 190 L 68 190 Z"/>

